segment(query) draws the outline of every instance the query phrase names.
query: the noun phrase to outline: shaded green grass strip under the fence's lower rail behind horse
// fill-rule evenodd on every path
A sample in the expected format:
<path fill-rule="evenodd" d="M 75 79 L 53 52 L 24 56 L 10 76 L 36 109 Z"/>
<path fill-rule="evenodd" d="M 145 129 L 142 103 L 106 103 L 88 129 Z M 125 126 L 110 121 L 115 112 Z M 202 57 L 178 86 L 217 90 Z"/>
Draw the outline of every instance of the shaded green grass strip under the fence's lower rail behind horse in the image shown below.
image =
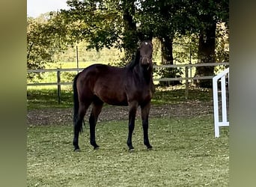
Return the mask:
<path fill-rule="evenodd" d="M 58 95 L 56 88 L 50 89 L 34 89 L 28 88 L 27 107 L 28 110 L 38 108 L 72 108 L 73 107 L 73 91 L 71 86 L 61 89 L 61 104 L 58 105 Z M 213 97 L 211 90 L 189 90 L 188 101 L 210 101 Z M 177 89 L 172 91 L 157 90 L 153 94 L 152 104 L 174 104 L 185 102 L 185 90 Z"/>

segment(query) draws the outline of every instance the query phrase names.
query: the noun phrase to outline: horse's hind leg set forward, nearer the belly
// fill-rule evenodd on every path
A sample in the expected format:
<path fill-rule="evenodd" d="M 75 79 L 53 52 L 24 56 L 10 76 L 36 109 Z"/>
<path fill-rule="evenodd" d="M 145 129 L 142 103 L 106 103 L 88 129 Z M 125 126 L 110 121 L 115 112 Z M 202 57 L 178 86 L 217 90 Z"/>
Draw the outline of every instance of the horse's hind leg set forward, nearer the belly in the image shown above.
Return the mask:
<path fill-rule="evenodd" d="M 91 110 L 91 115 L 89 118 L 90 123 L 90 143 L 94 147 L 94 150 L 96 150 L 99 146 L 96 144 L 96 138 L 95 138 L 95 126 L 98 120 L 98 116 L 101 112 L 101 109 L 103 108 L 103 102 L 100 99 L 97 99 L 97 101 L 93 102 L 93 108 Z"/>

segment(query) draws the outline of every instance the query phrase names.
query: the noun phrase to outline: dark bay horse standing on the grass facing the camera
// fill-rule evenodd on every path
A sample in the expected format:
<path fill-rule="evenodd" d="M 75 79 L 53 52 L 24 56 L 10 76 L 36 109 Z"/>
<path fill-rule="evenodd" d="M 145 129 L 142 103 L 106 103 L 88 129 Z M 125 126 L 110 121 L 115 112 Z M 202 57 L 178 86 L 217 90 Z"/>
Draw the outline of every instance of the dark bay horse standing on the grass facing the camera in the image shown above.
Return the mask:
<path fill-rule="evenodd" d="M 79 132 L 82 131 L 82 121 L 88 107 L 92 105 L 90 123 L 90 143 L 94 149 L 99 147 L 95 141 L 95 126 L 103 108 L 103 103 L 109 105 L 129 106 L 129 132 L 127 145 L 132 147 L 132 132 L 135 126 L 135 114 L 141 107 L 141 118 L 144 133 L 144 145 L 151 149 L 148 139 L 148 115 L 153 86 L 153 44 L 150 40 L 141 42 L 135 59 L 126 67 L 111 67 L 104 64 L 94 64 L 78 73 L 73 82 L 73 146 L 79 151 Z"/>

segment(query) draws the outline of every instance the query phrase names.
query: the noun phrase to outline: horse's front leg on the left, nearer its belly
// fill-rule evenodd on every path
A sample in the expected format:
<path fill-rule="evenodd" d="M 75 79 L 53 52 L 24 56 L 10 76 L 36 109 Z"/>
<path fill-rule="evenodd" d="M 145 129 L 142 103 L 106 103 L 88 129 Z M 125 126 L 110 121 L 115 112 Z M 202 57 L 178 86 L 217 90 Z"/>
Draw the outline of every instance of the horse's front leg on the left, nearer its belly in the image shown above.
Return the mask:
<path fill-rule="evenodd" d="M 137 102 L 131 102 L 129 103 L 129 123 L 128 123 L 128 138 L 127 138 L 127 145 L 129 147 L 129 150 L 133 150 L 134 147 L 132 146 L 132 132 L 134 130 L 135 126 L 135 115 L 138 108 Z"/>

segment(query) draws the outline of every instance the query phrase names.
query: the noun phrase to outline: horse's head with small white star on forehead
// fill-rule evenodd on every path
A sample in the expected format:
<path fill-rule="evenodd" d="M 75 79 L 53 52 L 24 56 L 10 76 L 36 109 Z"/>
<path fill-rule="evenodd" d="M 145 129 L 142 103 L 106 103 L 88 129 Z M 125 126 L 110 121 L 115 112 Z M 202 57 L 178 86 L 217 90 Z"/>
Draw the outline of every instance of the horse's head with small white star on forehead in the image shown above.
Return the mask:
<path fill-rule="evenodd" d="M 139 48 L 139 62 L 142 66 L 152 65 L 153 43 L 150 40 L 142 41 Z"/>

